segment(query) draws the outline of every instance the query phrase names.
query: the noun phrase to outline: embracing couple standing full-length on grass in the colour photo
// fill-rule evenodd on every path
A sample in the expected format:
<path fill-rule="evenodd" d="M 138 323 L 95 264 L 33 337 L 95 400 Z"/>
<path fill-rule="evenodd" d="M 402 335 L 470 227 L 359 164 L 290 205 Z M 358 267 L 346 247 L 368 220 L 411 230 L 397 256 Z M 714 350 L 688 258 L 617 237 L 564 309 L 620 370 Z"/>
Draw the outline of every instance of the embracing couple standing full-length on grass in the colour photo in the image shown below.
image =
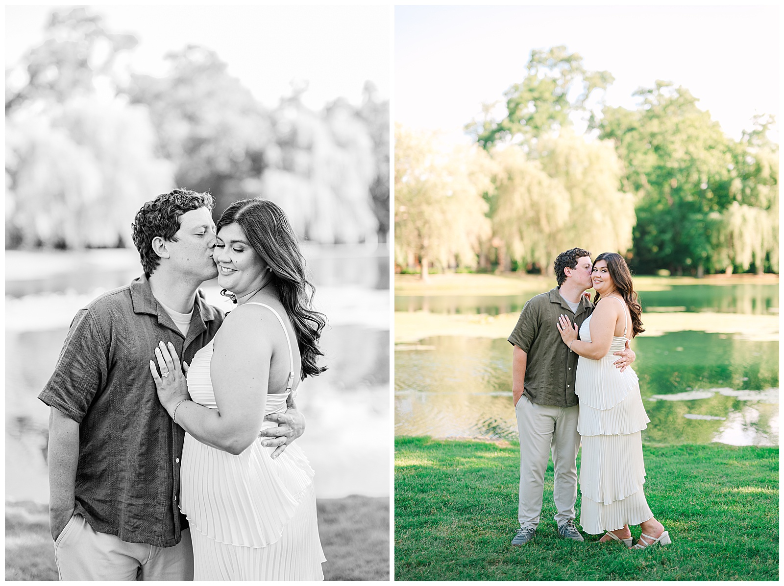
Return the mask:
<path fill-rule="evenodd" d="M 632 547 L 629 526 L 640 525 L 634 548 L 668 544 L 643 491 L 641 430 L 650 419 L 629 368 L 636 357 L 629 340 L 644 331 L 629 268 L 614 252 L 592 262 L 589 251 L 572 248 L 557 256 L 555 273 L 558 287 L 528 300 L 509 337 L 521 454 L 520 529 L 512 544 L 534 537 L 550 453 L 558 534 L 584 541 L 575 526 L 581 441 L 583 530 Z M 591 287 L 595 306 L 583 295 Z"/>

